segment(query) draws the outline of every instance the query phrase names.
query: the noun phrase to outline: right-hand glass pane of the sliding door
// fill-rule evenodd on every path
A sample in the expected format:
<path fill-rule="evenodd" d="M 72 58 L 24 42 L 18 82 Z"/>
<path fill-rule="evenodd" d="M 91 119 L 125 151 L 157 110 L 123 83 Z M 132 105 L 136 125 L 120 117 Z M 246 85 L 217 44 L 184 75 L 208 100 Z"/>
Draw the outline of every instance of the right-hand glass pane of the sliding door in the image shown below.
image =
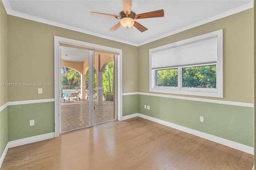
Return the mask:
<path fill-rule="evenodd" d="M 115 112 L 115 55 L 94 55 L 93 125 L 116 120 Z"/>

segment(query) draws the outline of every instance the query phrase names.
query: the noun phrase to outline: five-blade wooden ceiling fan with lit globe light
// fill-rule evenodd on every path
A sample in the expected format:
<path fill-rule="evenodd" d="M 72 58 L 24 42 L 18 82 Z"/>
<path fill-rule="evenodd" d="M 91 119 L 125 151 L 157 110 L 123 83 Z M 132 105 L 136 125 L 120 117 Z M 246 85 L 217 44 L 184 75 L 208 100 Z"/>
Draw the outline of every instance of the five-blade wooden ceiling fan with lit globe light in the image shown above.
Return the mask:
<path fill-rule="evenodd" d="M 148 30 L 148 28 L 134 21 L 134 19 L 137 20 L 137 19 L 143 19 L 143 18 L 156 18 L 156 17 L 164 16 L 164 10 L 157 10 L 152 12 L 146 12 L 143 14 L 136 14 L 135 12 L 131 11 L 132 0 L 122 0 L 122 6 L 123 6 L 123 11 L 121 11 L 119 15 L 103 14 L 98 12 L 91 12 L 91 15 L 108 16 L 108 17 L 115 17 L 116 19 L 120 19 L 120 22 L 118 22 L 118 24 L 116 24 L 114 27 L 110 28 L 110 31 L 115 31 L 120 26 L 124 26 L 125 28 L 130 28 L 134 26 L 138 30 L 140 30 L 140 32 L 144 32 Z"/>

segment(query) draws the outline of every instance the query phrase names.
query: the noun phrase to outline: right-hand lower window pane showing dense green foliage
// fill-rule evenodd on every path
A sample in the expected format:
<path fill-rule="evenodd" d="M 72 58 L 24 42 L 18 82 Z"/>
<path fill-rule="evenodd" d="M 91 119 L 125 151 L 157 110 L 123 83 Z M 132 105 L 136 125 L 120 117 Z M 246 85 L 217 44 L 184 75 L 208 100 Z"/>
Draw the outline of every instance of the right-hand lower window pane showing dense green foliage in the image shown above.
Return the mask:
<path fill-rule="evenodd" d="M 216 65 L 182 68 L 182 87 L 216 88 Z"/>

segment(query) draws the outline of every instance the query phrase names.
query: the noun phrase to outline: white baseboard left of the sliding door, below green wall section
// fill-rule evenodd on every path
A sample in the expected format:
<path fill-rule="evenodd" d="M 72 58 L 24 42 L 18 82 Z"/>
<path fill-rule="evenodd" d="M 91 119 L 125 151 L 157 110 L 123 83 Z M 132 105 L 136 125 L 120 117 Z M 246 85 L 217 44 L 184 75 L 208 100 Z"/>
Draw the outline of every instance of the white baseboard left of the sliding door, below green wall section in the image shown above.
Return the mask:
<path fill-rule="evenodd" d="M 54 138 L 54 132 L 46 133 L 46 134 L 40 134 L 40 135 L 37 135 L 37 136 L 32 136 L 32 137 L 18 139 L 18 140 L 12 140 L 12 141 L 8 142 L 7 145 L 8 145 L 8 148 L 13 148 L 13 147 L 16 147 L 16 146 L 21 146 L 21 145 L 24 145 L 24 144 L 30 144 L 30 143 L 34 143 L 34 142 L 39 142 L 39 141 L 50 139 L 50 138 Z"/>

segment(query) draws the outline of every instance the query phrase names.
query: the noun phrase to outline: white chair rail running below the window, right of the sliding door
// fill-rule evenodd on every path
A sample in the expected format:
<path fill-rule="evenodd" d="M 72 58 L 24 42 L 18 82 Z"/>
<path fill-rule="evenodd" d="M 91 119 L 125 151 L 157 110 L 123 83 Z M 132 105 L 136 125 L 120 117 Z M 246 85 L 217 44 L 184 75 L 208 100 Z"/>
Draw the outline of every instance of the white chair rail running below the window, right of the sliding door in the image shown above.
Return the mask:
<path fill-rule="evenodd" d="M 202 99 L 202 98 L 172 96 L 172 95 L 160 95 L 160 94 L 155 94 L 155 93 L 141 93 L 141 92 L 123 93 L 123 96 L 126 96 L 126 95 L 146 95 L 146 96 L 154 96 L 154 97 L 166 97 L 166 98 L 171 98 L 171 99 L 200 101 L 200 102 L 216 103 L 216 104 L 222 104 L 222 105 L 233 105 L 233 106 L 242 106 L 242 107 L 252 107 L 252 108 L 254 108 L 253 103 L 243 103 L 243 102 L 236 102 L 236 101 L 223 101 L 223 100 Z"/>

